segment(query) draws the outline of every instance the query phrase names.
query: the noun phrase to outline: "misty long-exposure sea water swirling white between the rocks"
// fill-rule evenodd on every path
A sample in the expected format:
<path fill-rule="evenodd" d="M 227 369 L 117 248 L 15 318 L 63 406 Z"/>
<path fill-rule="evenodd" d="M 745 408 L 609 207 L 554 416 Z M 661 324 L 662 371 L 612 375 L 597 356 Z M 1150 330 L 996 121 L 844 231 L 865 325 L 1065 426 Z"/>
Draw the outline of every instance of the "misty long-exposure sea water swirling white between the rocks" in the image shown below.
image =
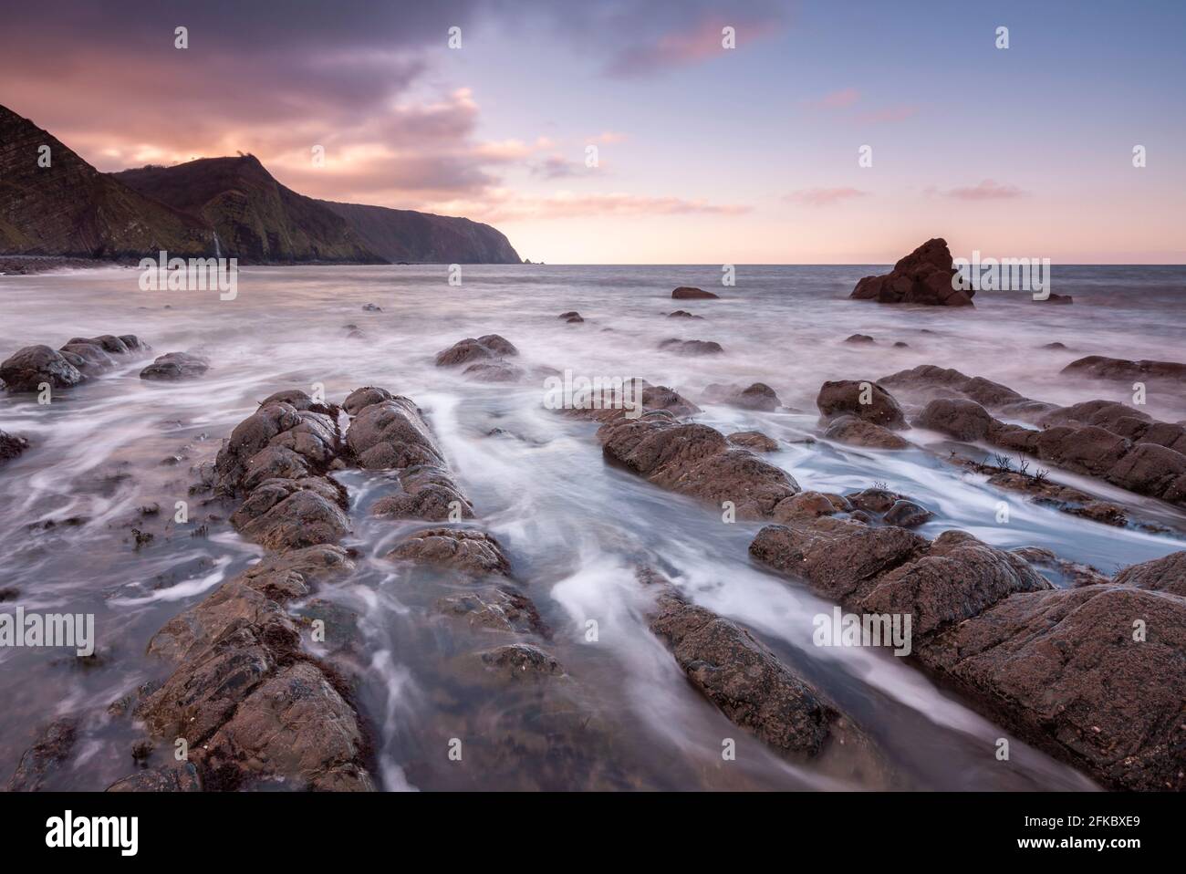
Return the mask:
<path fill-rule="evenodd" d="M 912 434 L 922 448 L 897 453 L 809 439 L 822 433 L 821 383 L 876 379 L 917 364 L 958 368 L 1056 403 L 1131 401 L 1129 387 L 1070 381 L 1059 370 L 1096 353 L 1182 361 L 1186 269 L 1057 267 L 1053 291 L 1075 295 L 1072 306 L 988 292 L 975 310 L 847 299 L 857 279 L 882 270 L 739 266 L 737 285 L 723 288 L 712 266 L 467 266 L 460 286 L 448 283 L 445 266 L 244 268 L 231 301 L 216 292 L 142 292 L 127 268 L 0 277 L 0 358 L 33 343 L 136 333 L 154 353 L 200 349 L 213 364 L 202 379 L 160 384 L 138 378 L 145 362 L 128 363 L 49 406 L 0 397 L 0 428 L 34 444 L 0 468 L 0 588 L 15 589 L 2 608 L 94 613 L 98 638 L 97 658 L 88 661 L 65 650 L 0 650 L 0 777 L 60 716 L 78 720 L 78 741 L 49 787 L 102 790 L 133 771 L 129 751 L 142 732 L 108 706 L 166 674 L 145 655 L 165 621 L 262 554 L 231 529 L 225 508 L 189 495 L 191 468 L 212 460 L 267 395 L 320 384 L 330 400 L 381 385 L 423 408 L 480 523 L 503 542 L 553 630 L 547 649 L 569 675 L 555 700 L 527 684 L 484 681 L 472 653 L 503 638 L 434 608 L 466 583 L 385 561 L 422 523 L 366 516 L 388 474 L 339 474 L 351 492 L 346 544 L 361 554 L 358 573 L 293 608 L 336 617 L 350 638 L 325 655 L 358 682 L 384 789 L 1091 789 L 1019 741 L 1009 761 L 997 761 L 1001 727 L 887 652 L 815 647 L 811 619 L 831 605 L 750 562 L 758 523 L 722 524 L 713 508 L 607 466 L 595 425 L 543 408 L 542 376 L 482 384 L 433 365 L 436 351 L 461 338 L 499 333 L 531 374 L 572 369 L 671 385 L 700 403 L 699 421 L 780 439 L 783 449 L 766 459 L 804 489 L 882 481 L 911 496 L 936 513 L 922 529 L 927 536 L 961 528 L 1005 548 L 1046 547 L 1104 573 L 1184 548 L 1171 535 L 1108 528 L 1019 499 L 1009 523 L 997 524 L 1002 495 L 929 452 L 925 434 Z M 680 285 L 722 296 L 672 301 Z M 368 302 L 382 312 L 364 312 Z M 677 308 L 704 318 L 665 318 Z M 556 318 L 569 310 L 585 323 Z M 364 338 L 347 338 L 351 324 Z M 842 342 L 856 332 L 876 342 Z M 716 340 L 725 353 L 675 356 L 658 349 L 669 337 Z M 898 340 L 908 347 L 893 347 Z M 1053 340 L 1067 350 L 1040 349 Z M 771 385 L 790 412 L 701 400 L 709 383 L 753 382 Z M 1150 387 L 1146 409 L 1186 419 L 1180 387 Z M 1146 518 L 1186 524 L 1158 502 L 1056 478 L 1122 499 Z M 186 524 L 172 523 L 178 500 L 190 502 Z M 141 512 L 153 504 L 159 513 Z M 138 548 L 133 529 L 153 537 Z M 869 768 L 843 752 L 791 764 L 729 723 L 646 630 L 639 563 L 753 629 L 876 741 L 886 766 Z M 586 636 L 589 620 L 595 642 Z M 454 738 L 471 751 L 464 764 L 447 755 Z M 735 761 L 721 758 L 726 738 L 737 741 Z"/>

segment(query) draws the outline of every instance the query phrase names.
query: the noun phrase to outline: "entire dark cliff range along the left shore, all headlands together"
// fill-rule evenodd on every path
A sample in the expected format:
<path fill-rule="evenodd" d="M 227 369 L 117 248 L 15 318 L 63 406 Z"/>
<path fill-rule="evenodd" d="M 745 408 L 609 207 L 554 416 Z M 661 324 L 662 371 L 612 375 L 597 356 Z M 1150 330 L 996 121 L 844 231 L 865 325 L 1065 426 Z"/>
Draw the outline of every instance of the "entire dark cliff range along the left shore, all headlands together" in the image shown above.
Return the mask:
<path fill-rule="evenodd" d="M 38 166 L 38 149 L 51 165 Z M 0 255 L 237 257 L 241 263 L 521 263 L 467 218 L 315 200 L 254 157 L 100 173 L 0 106 Z"/>

